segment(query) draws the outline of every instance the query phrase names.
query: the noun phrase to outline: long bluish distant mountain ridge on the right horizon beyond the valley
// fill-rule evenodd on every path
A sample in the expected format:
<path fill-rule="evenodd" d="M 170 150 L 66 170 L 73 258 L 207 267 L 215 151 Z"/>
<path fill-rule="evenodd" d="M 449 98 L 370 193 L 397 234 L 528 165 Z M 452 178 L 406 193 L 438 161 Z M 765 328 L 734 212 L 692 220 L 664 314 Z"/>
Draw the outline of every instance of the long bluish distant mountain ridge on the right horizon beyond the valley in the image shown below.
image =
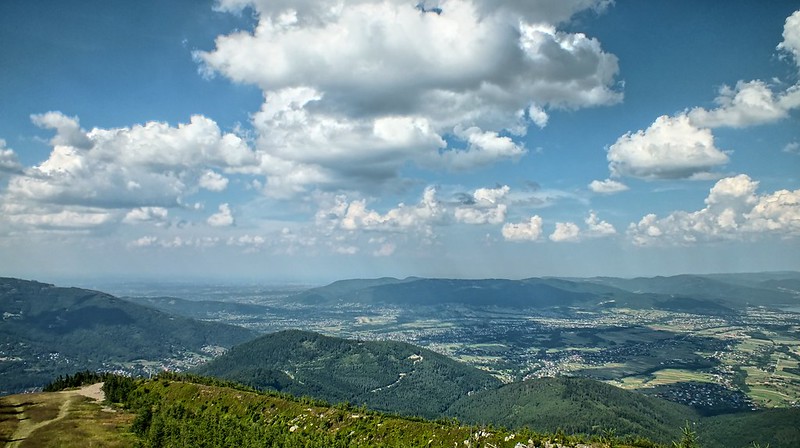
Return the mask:
<path fill-rule="evenodd" d="M 796 288 L 796 289 L 795 289 Z M 354 279 L 334 282 L 292 297 L 306 305 L 337 303 L 553 308 L 623 306 L 732 313 L 746 306 L 800 303 L 800 273 L 773 275 L 676 275 L 623 279 Z"/>

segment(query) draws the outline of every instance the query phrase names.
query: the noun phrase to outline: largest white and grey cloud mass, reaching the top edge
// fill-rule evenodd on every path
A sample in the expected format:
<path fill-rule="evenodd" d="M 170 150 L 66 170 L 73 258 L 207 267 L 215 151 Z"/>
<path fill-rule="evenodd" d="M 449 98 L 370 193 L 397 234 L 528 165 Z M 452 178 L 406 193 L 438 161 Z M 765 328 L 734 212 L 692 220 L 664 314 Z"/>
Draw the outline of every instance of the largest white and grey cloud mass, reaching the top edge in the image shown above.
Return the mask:
<path fill-rule="evenodd" d="M 209 75 L 264 91 L 253 115 L 259 163 L 246 169 L 266 177 L 265 193 L 368 191 L 409 162 L 515 160 L 547 109 L 619 102 L 616 56 L 557 27 L 609 3 L 224 0 L 220 10 L 252 7 L 258 23 L 195 58 Z"/>

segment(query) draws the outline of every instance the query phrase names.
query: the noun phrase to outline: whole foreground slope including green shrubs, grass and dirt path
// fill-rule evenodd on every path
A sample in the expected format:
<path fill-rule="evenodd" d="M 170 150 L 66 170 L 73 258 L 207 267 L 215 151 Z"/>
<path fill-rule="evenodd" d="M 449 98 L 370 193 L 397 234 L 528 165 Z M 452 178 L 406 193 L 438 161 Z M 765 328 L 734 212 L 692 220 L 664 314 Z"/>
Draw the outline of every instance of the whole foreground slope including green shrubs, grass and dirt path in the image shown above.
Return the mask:
<path fill-rule="evenodd" d="M 527 427 L 462 425 L 390 415 L 354 407 L 330 406 L 310 398 L 258 392 L 248 386 L 195 375 L 165 373 L 151 380 L 102 375 L 101 403 L 83 394 L 87 388 L 0 398 L 0 442 L 8 447 L 583 447 L 712 448 L 796 446 L 792 421 L 797 414 L 759 419 L 719 420 L 713 425 L 685 422 L 668 444 L 620 437 L 613 427 L 593 436 L 549 434 Z M 91 375 L 61 378 L 50 389 L 90 381 Z M 99 384 L 90 386 L 99 391 Z M 97 398 L 97 397 L 96 397 Z M 110 405 L 110 406 L 109 406 Z M 749 430 L 783 419 L 783 434 L 764 442 Z M 792 420 L 794 419 L 794 420 Z M 565 425 L 569 421 L 564 422 Z M 618 422 L 621 423 L 621 422 Z M 709 431 L 714 425 L 718 433 Z M 796 426 L 796 425 L 794 425 Z M 762 428 L 763 429 L 763 428 Z M 797 429 L 795 428 L 795 432 Z M 727 435 L 728 439 L 720 439 Z M 713 439 L 716 437 L 716 439 Z M 784 440 L 779 440 L 784 437 Z M 788 437 L 788 438 L 787 438 Z"/>

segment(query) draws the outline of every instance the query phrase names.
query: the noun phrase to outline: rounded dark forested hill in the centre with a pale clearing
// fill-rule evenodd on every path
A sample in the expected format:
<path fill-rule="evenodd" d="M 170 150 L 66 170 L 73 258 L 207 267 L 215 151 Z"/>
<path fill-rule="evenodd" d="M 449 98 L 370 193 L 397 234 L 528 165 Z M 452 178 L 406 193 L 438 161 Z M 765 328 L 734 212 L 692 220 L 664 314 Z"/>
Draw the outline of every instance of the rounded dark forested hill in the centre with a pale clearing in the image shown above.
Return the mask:
<path fill-rule="evenodd" d="M 258 389 L 431 418 L 469 393 L 500 385 L 482 370 L 404 342 L 298 330 L 234 347 L 196 371 Z"/>

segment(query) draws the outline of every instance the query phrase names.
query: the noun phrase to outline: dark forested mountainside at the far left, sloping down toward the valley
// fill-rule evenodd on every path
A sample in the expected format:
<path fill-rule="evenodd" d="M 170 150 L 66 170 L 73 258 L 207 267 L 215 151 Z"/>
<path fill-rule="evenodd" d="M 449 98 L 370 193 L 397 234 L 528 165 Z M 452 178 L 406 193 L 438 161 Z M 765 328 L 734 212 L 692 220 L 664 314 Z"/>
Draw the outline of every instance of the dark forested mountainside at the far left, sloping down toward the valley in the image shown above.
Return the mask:
<path fill-rule="evenodd" d="M 204 347 L 227 348 L 256 336 L 98 291 L 14 278 L 0 278 L 0 309 L 0 394 L 78 370 L 186 359 Z"/>

